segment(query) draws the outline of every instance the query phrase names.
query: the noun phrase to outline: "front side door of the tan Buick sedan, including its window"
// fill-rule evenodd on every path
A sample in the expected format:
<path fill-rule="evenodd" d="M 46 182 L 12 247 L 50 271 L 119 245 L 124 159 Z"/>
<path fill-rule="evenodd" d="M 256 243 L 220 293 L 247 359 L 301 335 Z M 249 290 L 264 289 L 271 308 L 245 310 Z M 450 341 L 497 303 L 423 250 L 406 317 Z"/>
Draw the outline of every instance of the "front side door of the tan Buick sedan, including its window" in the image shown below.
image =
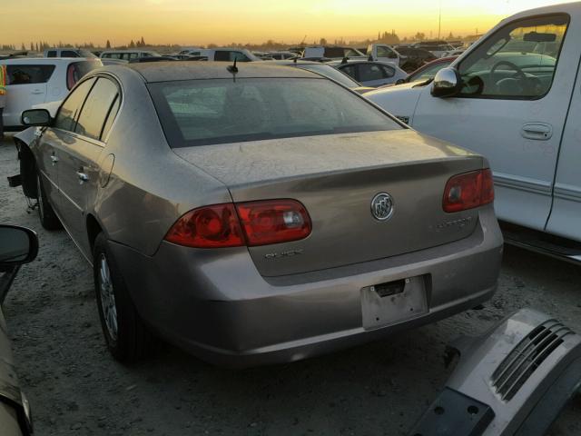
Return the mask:
<path fill-rule="evenodd" d="M 84 98 L 88 94 L 94 79 L 80 84 L 67 97 L 59 108 L 52 127 L 44 130 L 38 142 L 36 166 L 41 175 L 44 191 L 56 213 L 62 215 L 59 201 L 58 171 L 59 161 L 62 158 L 62 144 L 71 141 L 70 132 L 74 131 L 76 119 L 81 111 Z"/>

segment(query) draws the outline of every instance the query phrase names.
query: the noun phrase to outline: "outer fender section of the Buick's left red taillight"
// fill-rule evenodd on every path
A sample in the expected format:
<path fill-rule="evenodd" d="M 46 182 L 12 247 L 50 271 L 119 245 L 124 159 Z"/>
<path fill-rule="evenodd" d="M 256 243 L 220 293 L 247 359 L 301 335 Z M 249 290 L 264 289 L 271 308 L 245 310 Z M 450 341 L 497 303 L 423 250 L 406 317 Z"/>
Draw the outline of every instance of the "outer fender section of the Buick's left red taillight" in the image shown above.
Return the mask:
<path fill-rule="evenodd" d="M 197 248 L 244 245 L 240 222 L 231 203 L 201 207 L 184 214 L 173 224 L 165 240 Z"/>

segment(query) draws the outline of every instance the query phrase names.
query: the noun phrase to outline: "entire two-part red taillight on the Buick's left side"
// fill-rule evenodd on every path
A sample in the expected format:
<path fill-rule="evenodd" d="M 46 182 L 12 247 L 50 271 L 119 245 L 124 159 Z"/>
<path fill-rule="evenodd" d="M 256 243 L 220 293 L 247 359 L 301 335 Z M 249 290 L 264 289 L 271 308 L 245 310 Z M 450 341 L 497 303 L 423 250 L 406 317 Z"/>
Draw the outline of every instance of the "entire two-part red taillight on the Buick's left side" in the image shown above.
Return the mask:
<path fill-rule="evenodd" d="M 196 248 L 256 246 L 296 241 L 310 229 L 309 213 L 294 200 L 225 203 L 185 213 L 165 240 Z"/>

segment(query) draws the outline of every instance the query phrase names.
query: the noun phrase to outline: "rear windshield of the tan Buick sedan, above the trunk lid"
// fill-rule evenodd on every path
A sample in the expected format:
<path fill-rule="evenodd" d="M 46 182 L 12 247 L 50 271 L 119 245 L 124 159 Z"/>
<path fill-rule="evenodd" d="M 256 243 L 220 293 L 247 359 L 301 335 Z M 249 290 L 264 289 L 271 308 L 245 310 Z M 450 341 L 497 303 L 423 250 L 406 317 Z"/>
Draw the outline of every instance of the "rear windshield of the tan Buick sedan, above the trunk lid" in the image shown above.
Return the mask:
<path fill-rule="evenodd" d="M 327 79 L 217 79 L 149 85 L 170 146 L 402 128 Z"/>

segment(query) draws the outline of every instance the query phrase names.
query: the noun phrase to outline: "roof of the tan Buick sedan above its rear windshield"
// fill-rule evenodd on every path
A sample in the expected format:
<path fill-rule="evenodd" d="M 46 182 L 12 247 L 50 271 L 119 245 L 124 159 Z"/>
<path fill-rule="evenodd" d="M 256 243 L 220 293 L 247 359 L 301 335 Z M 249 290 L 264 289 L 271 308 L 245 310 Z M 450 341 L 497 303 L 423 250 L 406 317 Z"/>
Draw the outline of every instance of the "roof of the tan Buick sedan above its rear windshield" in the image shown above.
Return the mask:
<path fill-rule="evenodd" d="M 171 82 L 195 79 L 231 79 L 233 74 L 228 71 L 230 62 L 154 62 L 149 64 L 127 64 L 123 68 L 131 68 L 141 74 L 146 82 Z M 320 78 L 319 74 L 300 68 L 288 68 L 269 62 L 237 63 L 239 78 L 255 77 L 290 77 L 290 78 Z"/>

